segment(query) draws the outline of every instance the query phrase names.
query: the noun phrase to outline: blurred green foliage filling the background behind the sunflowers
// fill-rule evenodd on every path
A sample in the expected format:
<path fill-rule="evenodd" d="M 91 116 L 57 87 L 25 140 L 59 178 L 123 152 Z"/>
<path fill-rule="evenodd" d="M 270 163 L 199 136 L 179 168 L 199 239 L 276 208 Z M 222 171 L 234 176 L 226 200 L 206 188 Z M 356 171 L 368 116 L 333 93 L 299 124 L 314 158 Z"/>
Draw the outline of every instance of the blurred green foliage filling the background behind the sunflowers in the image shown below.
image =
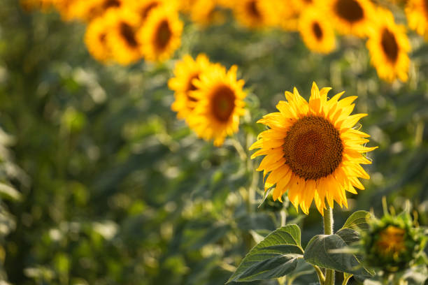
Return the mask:
<path fill-rule="evenodd" d="M 359 96 L 355 112 L 369 113 L 362 129 L 379 146 L 369 154 L 366 190 L 349 196 L 348 209 L 335 207 L 336 228 L 355 210 L 380 216 L 383 196 L 397 211 L 411 200 L 428 225 L 428 45 L 420 36 L 409 35 L 408 82 L 390 85 L 362 40 L 342 37 L 336 52 L 320 56 L 297 34 L 248 31 L 231 20 L 206 29 L 187 23 L 176 58 L 204 52 L 237 64 L 248 90 L 240 133 L 217 148 L 170 109 L 174 61 L 104 66 L 87 53 L 84 31 L 57 13 L 1 0 L 4 282 L 224 284 L 255 241 L 285 221 L 302 226 L 306 244 L 322 233 L 320 214 L 303 217 L 287 202 L 281 214 L 269 197 L 257 207 L 262 175 L 246 149 L 283 92 L 296 86 L 308 98 L 313 81 Z M 293 284 L 316 279 L 306 273 Z"/>

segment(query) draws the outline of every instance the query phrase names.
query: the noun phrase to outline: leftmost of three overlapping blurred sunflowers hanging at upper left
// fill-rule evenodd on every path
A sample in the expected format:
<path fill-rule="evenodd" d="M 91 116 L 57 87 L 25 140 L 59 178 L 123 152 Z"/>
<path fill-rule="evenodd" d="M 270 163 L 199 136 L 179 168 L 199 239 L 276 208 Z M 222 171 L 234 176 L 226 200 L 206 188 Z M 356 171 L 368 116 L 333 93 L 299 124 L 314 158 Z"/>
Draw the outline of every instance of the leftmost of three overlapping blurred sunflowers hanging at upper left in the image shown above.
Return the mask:
<path fill-rule="evenodd" d="M 110 31 L 104 17 L 92 20 L 86 28 L 85 44 L 94 59 L 105 62 L 111 57 L 111 50 L 107 43 L 107 34 Z"/>

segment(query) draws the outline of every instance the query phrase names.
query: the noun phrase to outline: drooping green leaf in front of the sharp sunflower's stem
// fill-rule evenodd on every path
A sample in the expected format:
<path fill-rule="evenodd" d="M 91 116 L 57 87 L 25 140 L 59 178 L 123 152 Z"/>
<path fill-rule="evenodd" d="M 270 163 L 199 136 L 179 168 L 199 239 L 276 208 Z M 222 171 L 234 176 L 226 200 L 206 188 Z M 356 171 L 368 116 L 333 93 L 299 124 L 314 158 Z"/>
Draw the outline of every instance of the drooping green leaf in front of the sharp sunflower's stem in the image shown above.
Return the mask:
<path fill-rule="evenodd" d="M 354 254 L 345 252 L 348 247 L 340 235 L 315 235 L 305 249 L 308 263 L 354 275 L 370 276 Z"/>

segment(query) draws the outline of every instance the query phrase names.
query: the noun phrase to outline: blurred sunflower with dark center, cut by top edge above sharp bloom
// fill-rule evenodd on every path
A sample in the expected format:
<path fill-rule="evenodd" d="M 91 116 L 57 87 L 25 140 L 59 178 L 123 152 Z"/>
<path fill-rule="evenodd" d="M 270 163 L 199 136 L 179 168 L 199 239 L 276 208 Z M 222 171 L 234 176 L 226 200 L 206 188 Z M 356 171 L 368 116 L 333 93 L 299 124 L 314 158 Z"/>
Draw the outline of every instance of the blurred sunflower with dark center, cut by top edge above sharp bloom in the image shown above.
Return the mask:
<path fill-rule="evenodd" d="M 341 34 L 364 37 L 373 20 L 373 4 L 369 0 L 327 0 L 334 27 Z"/>

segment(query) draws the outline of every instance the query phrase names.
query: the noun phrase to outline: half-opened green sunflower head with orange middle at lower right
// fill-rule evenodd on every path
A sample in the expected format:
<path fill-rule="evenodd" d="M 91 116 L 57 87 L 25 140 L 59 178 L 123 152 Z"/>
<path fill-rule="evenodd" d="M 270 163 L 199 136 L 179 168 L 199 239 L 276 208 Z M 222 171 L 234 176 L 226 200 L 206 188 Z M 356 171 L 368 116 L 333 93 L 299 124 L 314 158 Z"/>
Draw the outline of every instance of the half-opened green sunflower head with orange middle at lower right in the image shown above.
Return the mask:
<path fill-rule="evenodd" d="M 422 253 L 425 243 L 426 238 L 420 228 L 413 227 L 409 214 L 387 214 L 382 219 L 372 219 L 363 235 L 364 262 L 388 272 L 404 270 Z"/>

